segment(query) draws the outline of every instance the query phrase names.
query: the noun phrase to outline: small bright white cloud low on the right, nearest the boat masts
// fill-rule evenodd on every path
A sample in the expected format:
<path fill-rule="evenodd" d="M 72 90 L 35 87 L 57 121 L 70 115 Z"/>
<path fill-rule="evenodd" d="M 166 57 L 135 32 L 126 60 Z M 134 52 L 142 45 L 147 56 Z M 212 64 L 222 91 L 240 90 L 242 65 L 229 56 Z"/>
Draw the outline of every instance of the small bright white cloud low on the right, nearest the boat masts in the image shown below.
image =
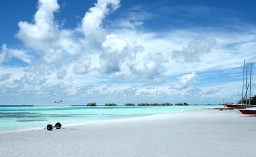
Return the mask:
<path fill-rule="evenodd" d="M 186 75 L 183 75 L 181 78 L 180 78 L 180 81 L 178 84 L 176 84 L 175 88 L 177 89 L 184 89 L 184 88 L 187 88 L 188 87 L 188 84 L 194 80 L 197 79 L 197 74 L 196 72 L 192 72 L 191 74 L 186 74 Z"/>

